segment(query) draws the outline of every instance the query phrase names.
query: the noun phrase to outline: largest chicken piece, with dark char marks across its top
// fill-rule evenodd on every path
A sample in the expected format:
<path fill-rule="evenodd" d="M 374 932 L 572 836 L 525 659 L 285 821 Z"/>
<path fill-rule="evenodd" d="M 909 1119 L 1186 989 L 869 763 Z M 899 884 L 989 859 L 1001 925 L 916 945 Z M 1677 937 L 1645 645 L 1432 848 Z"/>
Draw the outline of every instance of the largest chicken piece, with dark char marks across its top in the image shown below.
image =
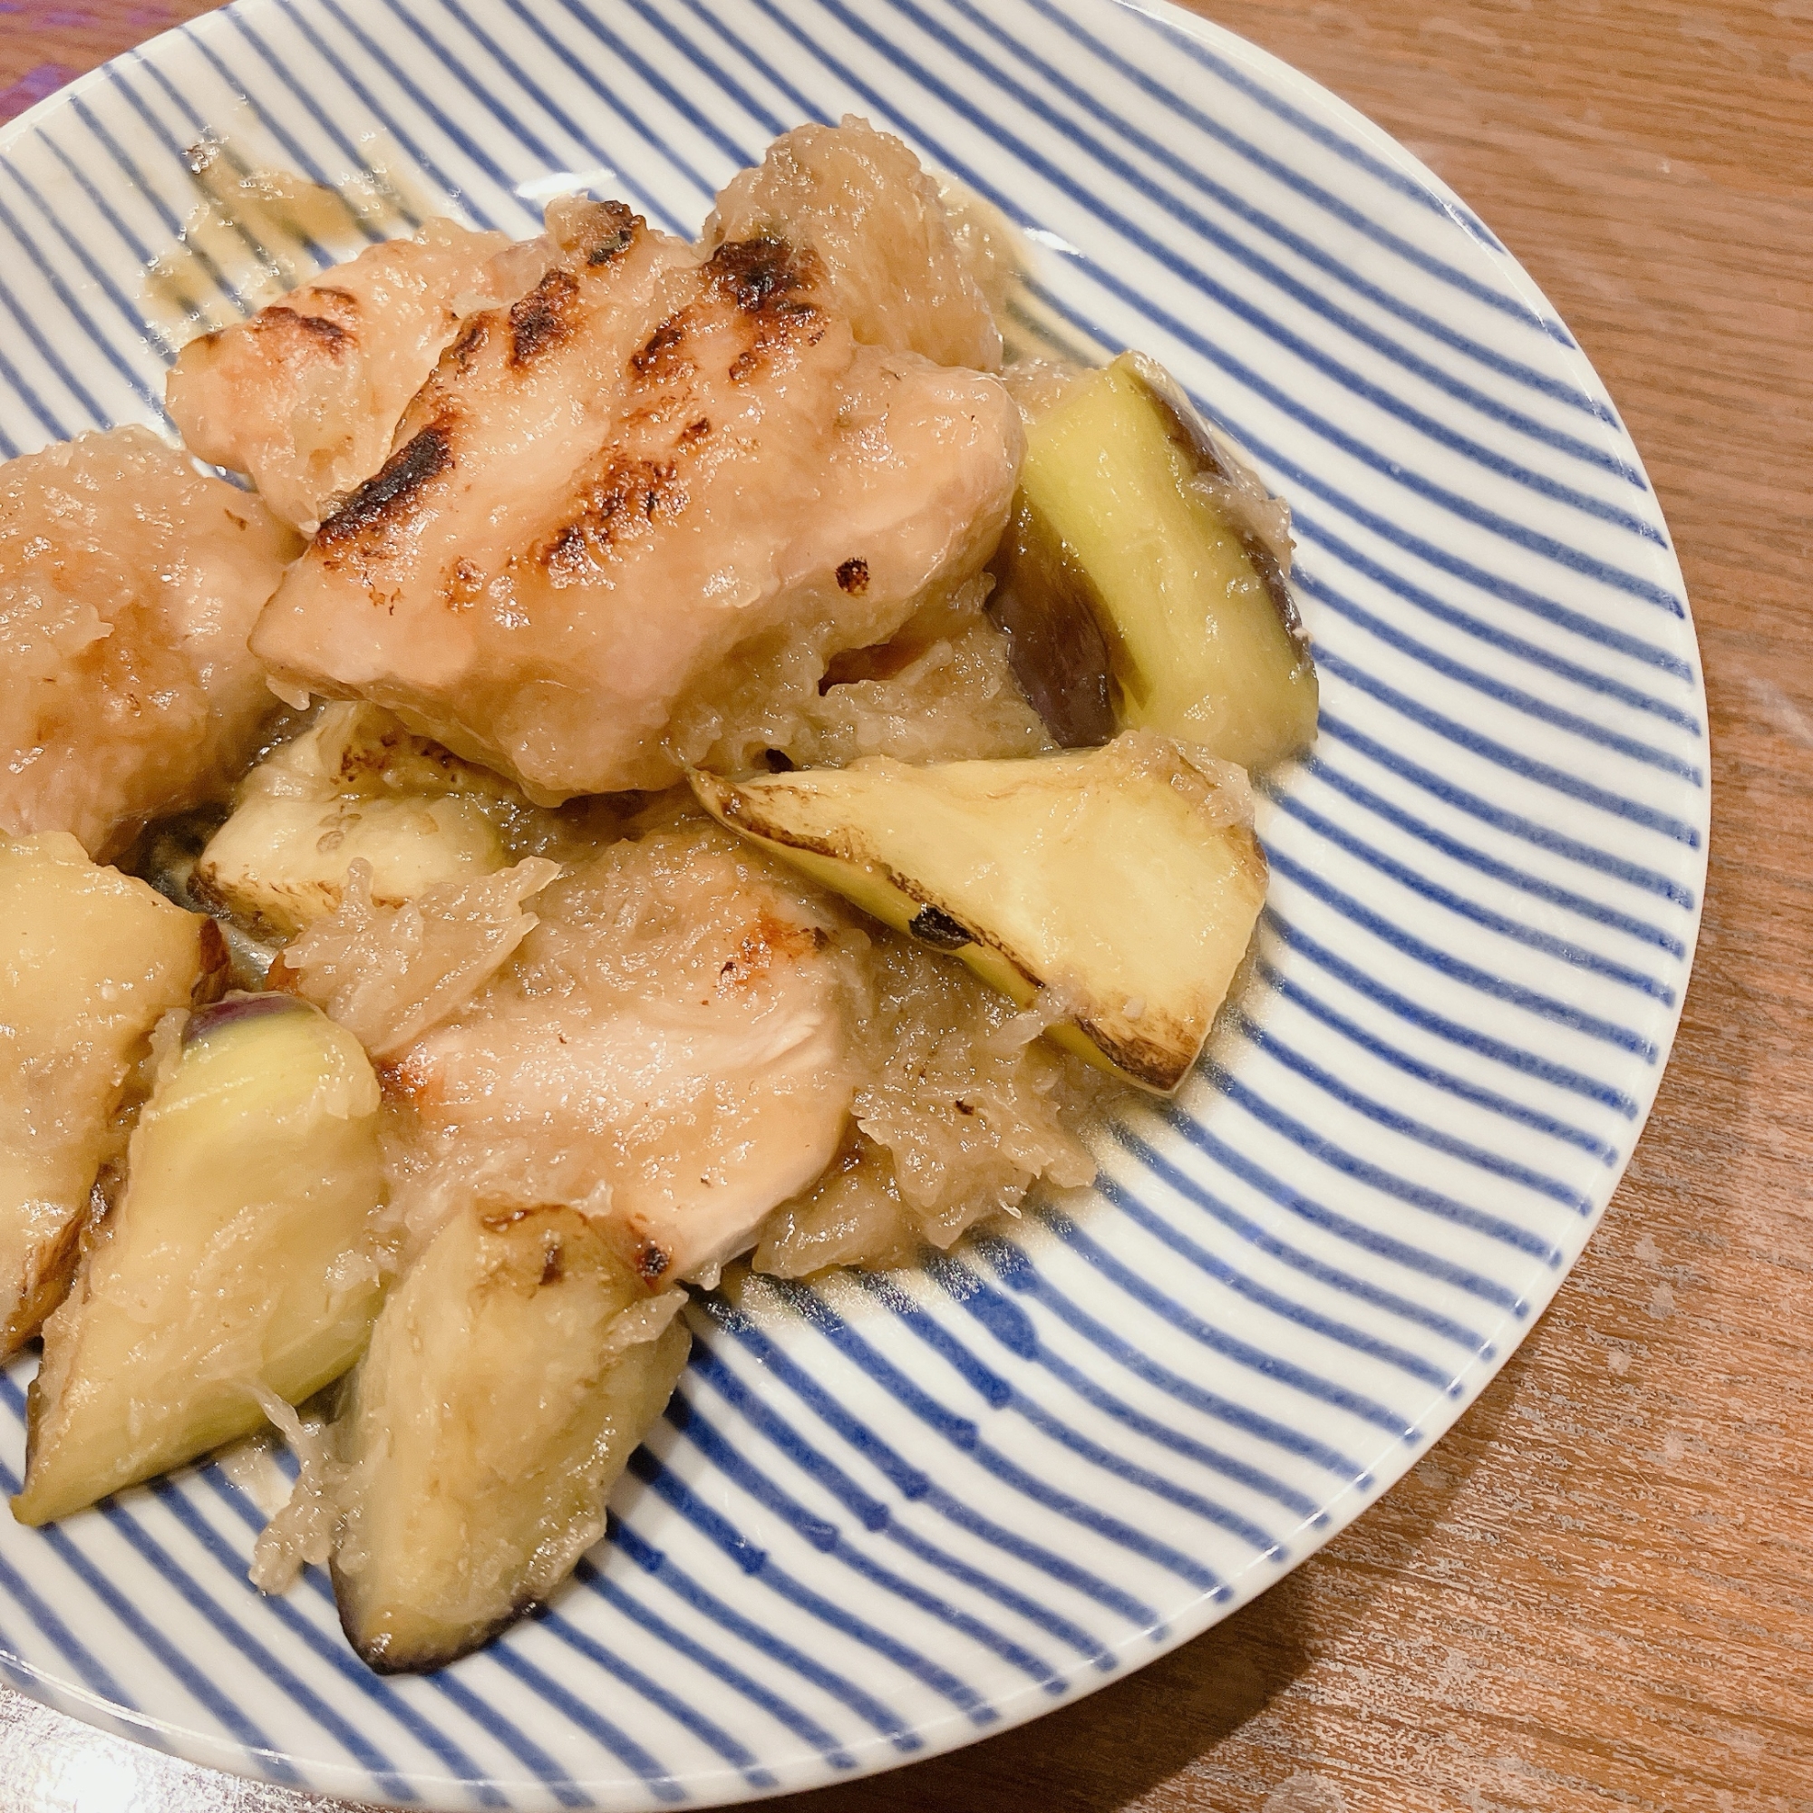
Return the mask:
<path fill-rule="evenodd" d="M 994 551 L 1021 455 L 997 379 L 858 344 L 812 252 L 548 221 L 558 261 L 470 321 L 254 633 L 538 803 L 676 780 L 674 718 L 778 642 L 809 691 L 887 640 Z"/>

